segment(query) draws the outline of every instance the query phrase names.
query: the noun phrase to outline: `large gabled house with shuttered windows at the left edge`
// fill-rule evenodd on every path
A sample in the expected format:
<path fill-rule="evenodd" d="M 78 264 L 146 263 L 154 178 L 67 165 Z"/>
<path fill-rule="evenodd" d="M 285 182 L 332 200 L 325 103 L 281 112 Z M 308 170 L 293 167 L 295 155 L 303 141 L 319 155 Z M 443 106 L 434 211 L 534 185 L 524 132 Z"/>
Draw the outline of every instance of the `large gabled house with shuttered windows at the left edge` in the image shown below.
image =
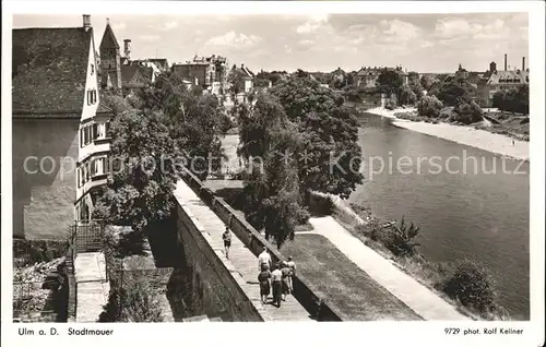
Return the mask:
<path fill-rule="evenodd" d="M 13 235 L 66 238 L 90 218 L 109 170 L 111 110 L 100 104 L 91 17 L 12 33 Z"/>

